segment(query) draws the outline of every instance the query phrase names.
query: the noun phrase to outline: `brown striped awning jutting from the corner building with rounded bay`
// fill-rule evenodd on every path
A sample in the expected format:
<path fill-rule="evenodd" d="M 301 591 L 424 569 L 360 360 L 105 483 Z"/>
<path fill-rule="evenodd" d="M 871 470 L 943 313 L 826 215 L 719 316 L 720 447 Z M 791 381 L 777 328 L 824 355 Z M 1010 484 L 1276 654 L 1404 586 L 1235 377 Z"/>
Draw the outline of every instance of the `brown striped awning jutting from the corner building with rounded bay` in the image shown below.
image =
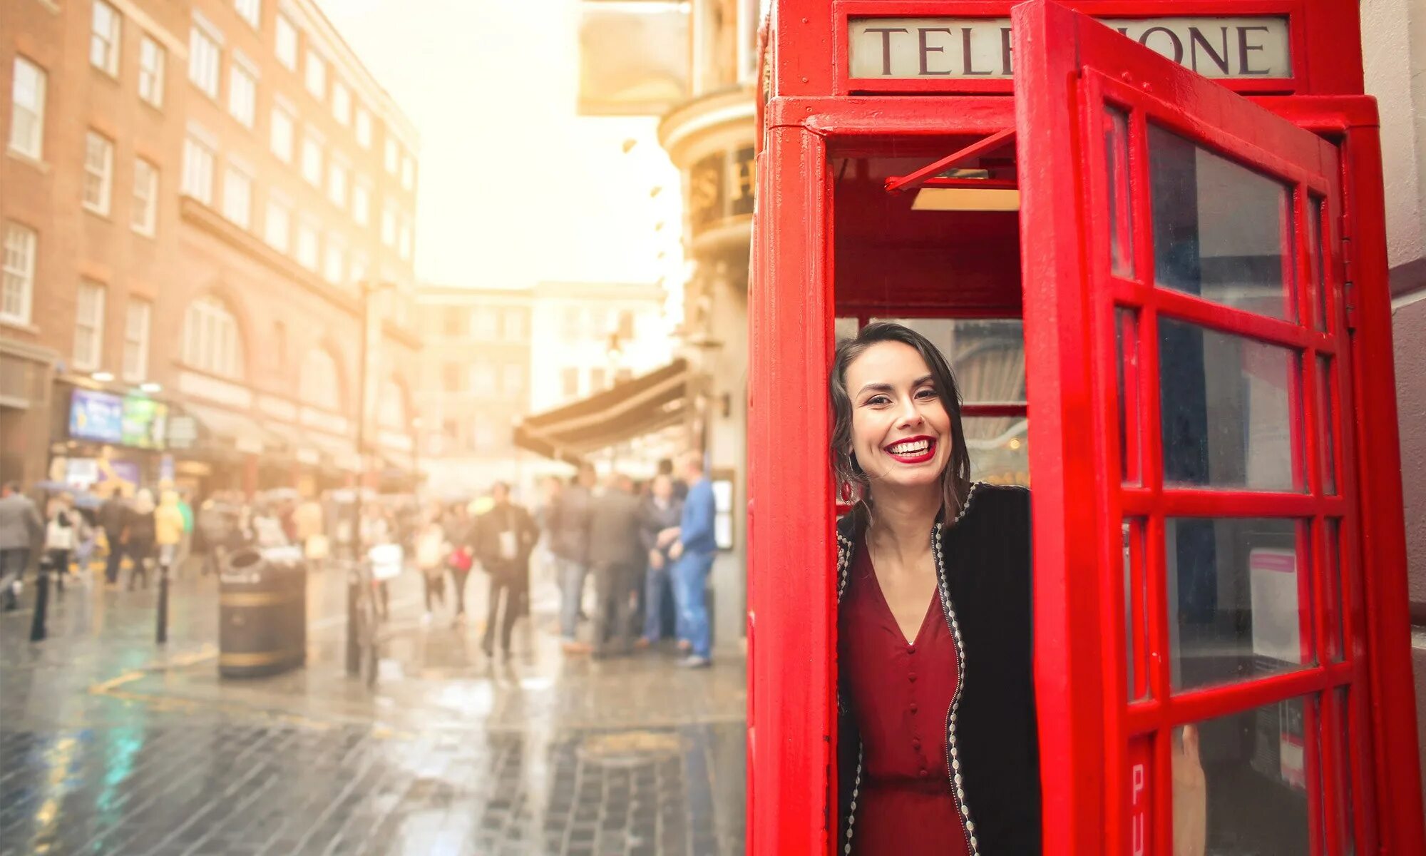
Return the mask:
<path fill-rule="evenodd" d="M 515 445 L 579 464 L 590 452 L 682 422 L 687 384 L 687 361 L 674 360 L 589 398 L 526 417 L 515 428 Z"/>

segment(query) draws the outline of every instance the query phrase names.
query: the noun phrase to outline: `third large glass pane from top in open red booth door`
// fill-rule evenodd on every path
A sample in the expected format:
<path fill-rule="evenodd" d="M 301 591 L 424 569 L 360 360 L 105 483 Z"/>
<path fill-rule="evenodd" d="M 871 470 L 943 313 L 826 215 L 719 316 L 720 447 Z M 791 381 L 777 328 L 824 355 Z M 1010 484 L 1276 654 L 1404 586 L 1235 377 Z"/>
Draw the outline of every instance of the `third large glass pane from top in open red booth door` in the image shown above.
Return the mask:
<path fill-rule="evenodd" d="M 1164 521 L 1175 691 L 1316 662 L 1305 538 L 1292 519 Z"/>

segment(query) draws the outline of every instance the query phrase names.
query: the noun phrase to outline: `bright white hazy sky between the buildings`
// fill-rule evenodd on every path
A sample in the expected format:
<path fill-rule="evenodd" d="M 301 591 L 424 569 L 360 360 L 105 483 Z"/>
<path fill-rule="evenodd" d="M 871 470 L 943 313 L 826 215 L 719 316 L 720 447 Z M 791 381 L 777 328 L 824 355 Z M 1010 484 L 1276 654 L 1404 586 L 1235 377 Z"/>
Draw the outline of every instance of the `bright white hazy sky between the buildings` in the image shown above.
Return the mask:
<path fill-rule="evenodd" d="M 421 134 L 422 282 L 677 288 L 679 173 L 656 117 L 576 116 L 578 3 L 318 0 Z"/>

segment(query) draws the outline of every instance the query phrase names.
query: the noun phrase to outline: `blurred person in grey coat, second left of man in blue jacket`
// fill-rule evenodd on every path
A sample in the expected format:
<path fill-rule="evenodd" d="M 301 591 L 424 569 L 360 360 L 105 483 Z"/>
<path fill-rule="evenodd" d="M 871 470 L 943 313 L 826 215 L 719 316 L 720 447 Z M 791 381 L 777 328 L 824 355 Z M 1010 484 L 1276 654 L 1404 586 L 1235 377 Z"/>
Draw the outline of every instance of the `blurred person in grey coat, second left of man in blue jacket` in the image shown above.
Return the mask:
<path fill-rule="evenodd" d="M 633 633 L 633 589 L 643 555 L 639 498 L 632 482 L 609 474 L 589 516 L 589 572 L 595 578 L 595 655 L 629 653 Z"/>

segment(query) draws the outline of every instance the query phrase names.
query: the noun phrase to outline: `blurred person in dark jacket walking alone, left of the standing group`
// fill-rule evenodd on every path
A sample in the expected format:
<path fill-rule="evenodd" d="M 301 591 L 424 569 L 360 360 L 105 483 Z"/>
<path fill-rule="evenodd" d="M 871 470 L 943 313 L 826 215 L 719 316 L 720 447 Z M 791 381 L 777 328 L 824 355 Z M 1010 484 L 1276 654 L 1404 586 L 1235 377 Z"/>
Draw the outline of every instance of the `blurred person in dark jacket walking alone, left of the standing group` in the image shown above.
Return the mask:
<path fill-rule="evenodd" d="M 529 511 L 511 502 L 511 486 L 505 482 L 495 482 L 491 488 L 491 509 L 475 521 L 476 558 L 491 575 L 491 598 L 481 649 L 486 656 L 495 656 L 495 626 L 496 619 L 501 619 L 503 595 L 505 613 L 499 622 L 501 655 L 509 658 L 515 619 L 525 612 L 525 602 L 529 598 L 530 552 L 539 541 L 539 529 Z"/>

